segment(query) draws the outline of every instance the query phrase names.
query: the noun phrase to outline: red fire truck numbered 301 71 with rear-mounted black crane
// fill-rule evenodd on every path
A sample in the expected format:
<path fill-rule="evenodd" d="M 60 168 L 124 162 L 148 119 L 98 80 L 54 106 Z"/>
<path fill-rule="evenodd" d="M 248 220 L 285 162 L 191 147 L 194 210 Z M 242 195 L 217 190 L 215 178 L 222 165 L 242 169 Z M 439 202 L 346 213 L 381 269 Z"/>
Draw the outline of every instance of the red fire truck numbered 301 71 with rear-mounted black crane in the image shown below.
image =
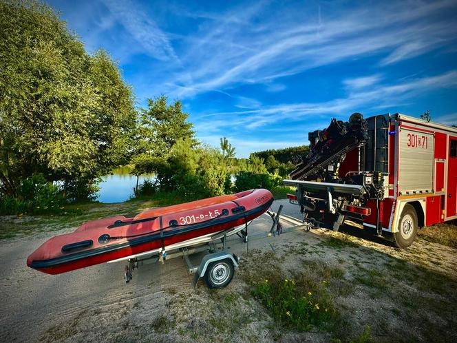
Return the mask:
<path fill-rule="evenodd" d="M 356 113 L 308 137 L 284 184 L 297 187 L 288 198 L 313 225 L 337 231 L 350 219 L 406 248 L 418 228 L 457 218 L 456 127 Z"/>

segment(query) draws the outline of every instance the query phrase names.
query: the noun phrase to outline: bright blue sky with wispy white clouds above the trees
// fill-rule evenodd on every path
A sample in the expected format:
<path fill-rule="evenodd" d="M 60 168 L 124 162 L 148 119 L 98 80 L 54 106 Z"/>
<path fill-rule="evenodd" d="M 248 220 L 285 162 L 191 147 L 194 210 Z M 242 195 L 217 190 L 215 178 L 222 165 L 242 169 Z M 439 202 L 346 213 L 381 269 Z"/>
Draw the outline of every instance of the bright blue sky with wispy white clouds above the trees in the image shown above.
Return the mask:
<path fill-rule="evenodd" d="M 457 123 L 457 1 L 47 1 L 136 104 L 180 99 L 237 156 L 308 144 L 352 112 Z"/>

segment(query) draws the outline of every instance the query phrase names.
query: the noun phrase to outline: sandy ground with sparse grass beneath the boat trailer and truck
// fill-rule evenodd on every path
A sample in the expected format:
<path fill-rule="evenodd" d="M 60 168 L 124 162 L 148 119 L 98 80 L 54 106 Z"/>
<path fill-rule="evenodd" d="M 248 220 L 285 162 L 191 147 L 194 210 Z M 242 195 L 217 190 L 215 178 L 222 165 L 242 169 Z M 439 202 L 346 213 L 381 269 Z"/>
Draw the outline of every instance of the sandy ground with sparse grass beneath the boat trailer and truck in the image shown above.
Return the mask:
<path fill-rule="evenodd" d="M 301 218 L 298 208 L 286 200 L 276 201 L 273 209 L 279 204 L 284 205 L 284 214 Z M 284 225 L 288 226 L 286 222 Z M 270 226 L 270 218 L 261 216 L 249 227 L 250 234 L 266 233 Z M 298 230 L 275 238 L 257 237 L 248 247 L 233 236 L 228 247 L 241 256 L 240 271 L 229 287 L 215 291 L 206 289 L 201 281 L 194 289 L 193 277 L 180 258 L 141 267 L 134 271 L 134 279 L 129 284 L 123 280 L 123 262 L 100 264 L 59 276 L 26 267 L 27 256 L 47 238 L 73 230 L 74 227 L 68 227 L 59 232 L 0 242 L 1 342 L 328 342 L 331 335 L 316 330 L 277 334 L 277 323 L 248 296 L 240 271 L 256 267 L 253 261 L 259 263 L 259 260 L 253 256 L 271 256 L 272 253 L 284 261 L 281 265 L 286 272 L 297 271 L 304 263 L 316 260 L 342 269 L 344 287 L 352 290 L 337 295 L 336 303 L 352 318 L 354 331 L 370 324 L 372 340 L 397 340 L 403 334 L 396 336 L 395 331 L 404 330 L 406 326 L 409 335 L 403 335 L 405 340 L 427 341 L 429 336 L 422 333 L 427 325 L 437 328 L 441 338 L 437 341 L 456 339 L 454 307 L 445 306 L 444 312 L 437 308 L 441 313 L 438 315 L 434 312 L 416 315 L 420 305 L 414 302 L 414 306 L 419 307 L 403 310 L 407 304 L 398 304 L 399 299 L 408 294 L 423 299 L 432 297 L 437 304 L 445 301 L 440 299 L 445 296 L 440 295 L 440 289 L 431 293 L 415 287 L 414 284 L 423 282 L 421 278 L 443 276 L 455 293 L 457 253 L 454 248 L 419 239 L 412 248 L 398 250 L 385 242 L 322 229 Z M 335 239 L 337 245 L 332 244 Z M 251 253 L 246 254 L 247 248 Z M 382 274 L 391 270 L 398 274 Z M 373 287 L 361 284 L 365 272 L 375 278 Z M 414 274 L 414 278 L 403 280 L 405 273 Z M 378 287 L 379 282 L 383 282 L 384 289 Z M 389 293 L 392 292 L 390 284 L 398 291 Z M 398 294 L 398 298 L 390 294 Z M 455 303 L 454 300 L 449 301 Z M 428 319 L 418 321 L 418 318 Z"/>

